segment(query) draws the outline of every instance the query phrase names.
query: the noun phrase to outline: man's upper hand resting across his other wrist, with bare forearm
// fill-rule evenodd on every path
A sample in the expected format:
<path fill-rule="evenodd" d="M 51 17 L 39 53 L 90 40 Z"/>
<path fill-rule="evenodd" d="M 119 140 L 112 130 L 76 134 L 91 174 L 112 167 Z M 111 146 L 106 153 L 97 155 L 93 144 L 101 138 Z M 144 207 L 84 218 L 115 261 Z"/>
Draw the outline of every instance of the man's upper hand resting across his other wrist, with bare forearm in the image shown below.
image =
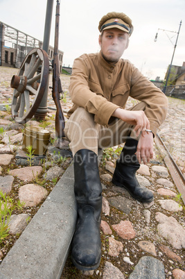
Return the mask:
<path fill-rule="evenodd" d="M 150 129 L 150 122 L 143 110 L 123 110 L 123 108 L 117 108 L 112 116 L 135 126 L 134 131 L 136 132 L 136 137 L 138 137 L 140 133 L 142 133 L 143 136 L 147 135 L 146 129 Z"/>

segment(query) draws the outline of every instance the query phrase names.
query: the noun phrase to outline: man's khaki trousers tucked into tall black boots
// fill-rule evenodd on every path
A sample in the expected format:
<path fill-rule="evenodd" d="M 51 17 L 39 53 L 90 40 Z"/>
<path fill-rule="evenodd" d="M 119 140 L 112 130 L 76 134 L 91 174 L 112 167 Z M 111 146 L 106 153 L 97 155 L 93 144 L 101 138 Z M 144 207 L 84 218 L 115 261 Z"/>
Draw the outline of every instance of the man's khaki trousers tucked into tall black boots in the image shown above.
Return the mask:
<path fill-rule="evenodd" d="M 146 103 L 141 102 L 128 110 L 145 109 Z M 128 136 L 139 140 L 130 124 L 121 119 L 114 119 L 108 127 L 96 124 L 94 115 L 84 108 L 78 108 L 73 112 L 66 123 L 64 133 L 70 142 L 69 147 L 73 155 L 80 149 L 88 149 L 98 155 L 98 148 L 105 149 L 122 144 Z"/>

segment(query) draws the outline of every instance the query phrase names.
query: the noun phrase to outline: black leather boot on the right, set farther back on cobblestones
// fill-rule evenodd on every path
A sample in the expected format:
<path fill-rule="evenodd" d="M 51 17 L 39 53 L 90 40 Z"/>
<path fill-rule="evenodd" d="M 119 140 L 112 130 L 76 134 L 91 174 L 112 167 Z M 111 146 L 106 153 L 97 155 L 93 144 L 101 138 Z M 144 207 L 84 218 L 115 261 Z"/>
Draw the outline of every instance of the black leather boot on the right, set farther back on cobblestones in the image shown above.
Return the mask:
<path fill-rule="evenodd" d="M 139 185 L 136 179 L 136 171 L 140 167 L 135 155 L 137 144 L 137 140 L 134 140 L 132 137 L 127 138 L 125 146 L 121 151 L 120 159 L 116 161 L 112 183 L 127 189 L 136 200 L 150 203 L 154 199 L 152 192 L 146 187 Z"/>

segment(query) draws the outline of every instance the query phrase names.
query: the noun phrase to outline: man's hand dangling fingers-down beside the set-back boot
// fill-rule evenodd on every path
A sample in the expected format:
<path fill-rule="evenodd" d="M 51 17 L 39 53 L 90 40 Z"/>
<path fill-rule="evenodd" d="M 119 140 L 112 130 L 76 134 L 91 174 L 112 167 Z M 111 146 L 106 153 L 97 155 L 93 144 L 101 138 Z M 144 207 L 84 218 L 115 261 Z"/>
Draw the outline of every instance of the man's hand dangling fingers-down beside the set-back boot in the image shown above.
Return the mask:
<path fill-rule="evenodd" d="M 153 155 L 153 134 L 146 133 L 144 137 L 141 135 L 136 149 L 136 158 L 139 164 L 141 164 L 142 160 L 143 164 L 150 162 Z"/>

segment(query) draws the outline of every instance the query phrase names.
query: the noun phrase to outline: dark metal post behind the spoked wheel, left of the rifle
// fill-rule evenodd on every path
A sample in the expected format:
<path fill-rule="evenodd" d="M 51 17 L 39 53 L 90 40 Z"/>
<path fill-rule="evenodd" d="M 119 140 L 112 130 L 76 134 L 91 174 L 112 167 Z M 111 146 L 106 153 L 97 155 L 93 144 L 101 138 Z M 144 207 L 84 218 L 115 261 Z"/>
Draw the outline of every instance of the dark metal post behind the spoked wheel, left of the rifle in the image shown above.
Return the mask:
<path fill-rule="evenodd" d="M 46 53 L 49 52 L 49 39 L 51 33 L 52 12 L 53 12 L 53 0 L 48 0 L 47 8 L 46 8 L 44 40 L 43 40 L 43 47 L 42 47 L 42 49 L 44 49 Z M 47 106 L 48 90 L 49 90 L 49 79 L 48 79 L 48 83 L 46 84 L 46 89 L 42 97 L 42 101 L 39 104 L 39 108 L 37 108 L 37 111 L 35 112 L 35 118 L 38 120 L 44 120 L 48 112 L 48 106 Z"/>

